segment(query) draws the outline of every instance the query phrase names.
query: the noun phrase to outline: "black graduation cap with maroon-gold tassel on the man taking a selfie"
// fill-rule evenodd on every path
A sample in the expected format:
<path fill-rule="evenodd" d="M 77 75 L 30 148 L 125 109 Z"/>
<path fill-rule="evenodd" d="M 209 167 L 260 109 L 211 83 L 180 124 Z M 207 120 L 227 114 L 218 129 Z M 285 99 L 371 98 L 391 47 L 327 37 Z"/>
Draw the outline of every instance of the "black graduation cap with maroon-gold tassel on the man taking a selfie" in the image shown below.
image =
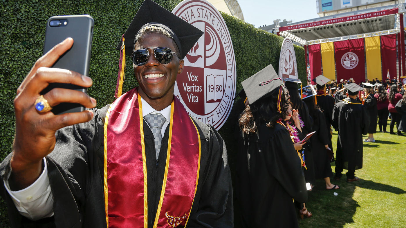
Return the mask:
<path fill-rule="evenodd" d="M 203 35 L 201 30 L 164 7 L 152 0 L 145 0 L 116 47 L 120 51 L 119 77 L 117 79 L 116 94 L 114 95 L 116 98 L 121 96 L 125 76 L 125 55 L 132 55 L 135 36 L 147 26 L 158 26 L 168 31 L 179 49 L 179 58 L 181 59 L 185 58 L 193 45 Z"/>

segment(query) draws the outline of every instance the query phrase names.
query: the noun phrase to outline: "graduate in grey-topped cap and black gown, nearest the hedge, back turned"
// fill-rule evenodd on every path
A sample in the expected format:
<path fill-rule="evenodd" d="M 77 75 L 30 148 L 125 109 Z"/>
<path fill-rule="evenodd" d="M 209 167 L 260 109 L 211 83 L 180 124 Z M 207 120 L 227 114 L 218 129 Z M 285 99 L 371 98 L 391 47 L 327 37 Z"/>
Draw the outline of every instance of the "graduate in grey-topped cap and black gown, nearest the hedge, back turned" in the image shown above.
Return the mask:
<path fill-rule="evenodd" d="M 300 158 L 281 123 L 288 115 L 287 90 L 272 65 L 242 85 L 250 102 L 239 120 L 236 162 L 242 227 L 298 227 L 293 200 L 305 202 L 307 191 Z"/>

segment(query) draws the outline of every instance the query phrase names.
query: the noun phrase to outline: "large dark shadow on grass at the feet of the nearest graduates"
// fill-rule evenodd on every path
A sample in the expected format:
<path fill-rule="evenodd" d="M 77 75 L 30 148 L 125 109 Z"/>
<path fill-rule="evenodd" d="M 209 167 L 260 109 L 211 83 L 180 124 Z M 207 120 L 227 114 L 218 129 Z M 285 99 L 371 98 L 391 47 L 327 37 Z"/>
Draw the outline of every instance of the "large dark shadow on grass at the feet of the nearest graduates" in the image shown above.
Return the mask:
<path fill-rule="evenodd" d="M 299 227 L 343 227 L 345 224 L 354 223 L 352 217 L 359 207 L 352 196 L 356 185 L 346 183 L 346 175 L 341 180 L 333 178 L 331 183 L 339 185 L 340 189 L 326 190 L 324 180 L 316 180 L 315 187 L 309 192 L 306 207 L 313 217 L 299 221 Z M 334 192 L 338 195 L 334 196 Z"/>

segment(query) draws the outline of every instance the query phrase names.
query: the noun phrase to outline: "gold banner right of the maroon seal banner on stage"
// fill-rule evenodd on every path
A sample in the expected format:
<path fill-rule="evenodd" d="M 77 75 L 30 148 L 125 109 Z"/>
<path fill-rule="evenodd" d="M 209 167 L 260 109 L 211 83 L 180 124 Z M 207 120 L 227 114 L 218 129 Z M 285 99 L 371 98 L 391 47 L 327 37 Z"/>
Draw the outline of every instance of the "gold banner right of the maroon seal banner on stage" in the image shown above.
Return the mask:
<path fill-rule="evenodd" d="M 379 36 L 365 37 L 365 55 L 367 58 L 368 80 L 382 80 Z"/>

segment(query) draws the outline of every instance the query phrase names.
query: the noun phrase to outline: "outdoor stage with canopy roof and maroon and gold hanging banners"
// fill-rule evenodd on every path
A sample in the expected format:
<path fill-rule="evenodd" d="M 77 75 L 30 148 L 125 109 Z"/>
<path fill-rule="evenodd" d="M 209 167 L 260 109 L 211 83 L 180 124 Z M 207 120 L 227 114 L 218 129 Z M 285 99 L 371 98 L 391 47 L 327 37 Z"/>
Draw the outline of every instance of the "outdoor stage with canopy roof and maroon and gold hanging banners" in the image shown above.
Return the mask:
<path fill-rule="evenodd" d="M 275 30 L 304 46 L 309 57 L 309 79 L 320 74 L 332 80 L 358 78 L 358 83 L 387 77 L 399 79 L 406 75 L 404 9 L 402 3 L 390 9 L 367 9 L 356 15 L 348 12 L 276 26 Z"/>

